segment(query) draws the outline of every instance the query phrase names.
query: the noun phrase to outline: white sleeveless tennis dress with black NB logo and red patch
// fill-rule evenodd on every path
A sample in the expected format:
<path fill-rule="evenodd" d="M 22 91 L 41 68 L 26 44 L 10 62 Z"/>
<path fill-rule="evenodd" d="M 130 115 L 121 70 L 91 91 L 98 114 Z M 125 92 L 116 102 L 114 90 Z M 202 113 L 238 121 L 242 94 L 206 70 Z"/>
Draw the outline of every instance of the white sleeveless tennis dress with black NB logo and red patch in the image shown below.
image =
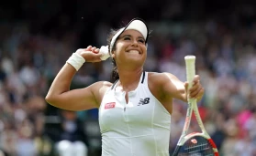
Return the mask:
<path fill-rule="evenodd" d="M 138 87 L 106 90 L 99 108 L 102 156 L 169 156 L 171 115 L 150 92 L 148 73 Z"/>

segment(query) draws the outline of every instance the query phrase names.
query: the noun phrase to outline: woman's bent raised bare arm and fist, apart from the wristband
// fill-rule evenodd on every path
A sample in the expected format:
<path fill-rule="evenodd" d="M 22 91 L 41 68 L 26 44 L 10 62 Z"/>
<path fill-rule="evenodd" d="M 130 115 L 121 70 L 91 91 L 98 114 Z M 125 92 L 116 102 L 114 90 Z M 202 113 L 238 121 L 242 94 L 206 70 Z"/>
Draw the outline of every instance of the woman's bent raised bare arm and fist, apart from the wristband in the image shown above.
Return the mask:
<path fill-rule="evenodd" d="M 77 54 L 81 55 L 86 62 L 99 62 L 101 55 L 95 47 L 78 49 Z M 72 78 L 76 73 L 75 68 L 66 63 L 54 78 L 46 101 L 57 108 L 69 110 L 95 109 L 100 105 L 106 88 L 111 86 L 108 82 L 96 82 L 87 88 L 77 88 L 70 90 Z"/>

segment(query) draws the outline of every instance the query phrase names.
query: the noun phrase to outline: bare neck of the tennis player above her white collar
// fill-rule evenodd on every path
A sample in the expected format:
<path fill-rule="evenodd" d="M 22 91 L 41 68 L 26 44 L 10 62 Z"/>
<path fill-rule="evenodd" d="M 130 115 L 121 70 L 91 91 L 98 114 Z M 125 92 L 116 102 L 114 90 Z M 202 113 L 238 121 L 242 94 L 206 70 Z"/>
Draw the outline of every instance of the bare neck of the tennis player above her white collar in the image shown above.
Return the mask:
<path fill-rule="evenodd" d="M 143 68 L 139 68 L 137 70 L 118 71 L 120 86 L 123 90 L 133 90 L 137 88 L 142 72 Z"/>

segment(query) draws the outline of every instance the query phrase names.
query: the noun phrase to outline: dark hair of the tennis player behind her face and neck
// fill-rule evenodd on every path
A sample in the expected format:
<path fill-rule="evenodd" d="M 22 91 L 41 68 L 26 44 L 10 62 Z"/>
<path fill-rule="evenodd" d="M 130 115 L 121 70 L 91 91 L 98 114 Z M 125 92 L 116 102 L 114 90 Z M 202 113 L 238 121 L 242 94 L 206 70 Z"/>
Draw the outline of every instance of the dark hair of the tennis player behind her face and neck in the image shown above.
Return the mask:
<path fill-rule="evenodd" d="M 115 44 L 113 45 L 113 47 L 112 47 L 112 51 L 110 51 L 110 43 L 111 43 L 112 37 L 117 34 L 117 31 L 118 31 L 118 30 L 119 30 L 119 29 L 117 29 L 117 30 L 111 29 L 111 30 L 110 30 L 110 33 L 109 33 L 109 35 L 107 36 L 107 39 L 106 39 L 107 45 L 108 45 L 108 53 L 109 53 L 110 57 L 111 57 L 112 51 L 113 51 L 113 50 L 116 50 L 116 43 L 115 43 Z M 117 79 L 119 79 L 119 74 L 118 74 L 118 70 L 117 70 L 116 61 L 115 61 L 115 59 L 114 59 L 113 57 L 111 57 L 111 58 L 112 58 L 112 63 L 113 63 L 113 70 L 112 70 L 112 74 L 111 74 L 111 80 L 112 80 L 113 82 L 115 82 Z"/>

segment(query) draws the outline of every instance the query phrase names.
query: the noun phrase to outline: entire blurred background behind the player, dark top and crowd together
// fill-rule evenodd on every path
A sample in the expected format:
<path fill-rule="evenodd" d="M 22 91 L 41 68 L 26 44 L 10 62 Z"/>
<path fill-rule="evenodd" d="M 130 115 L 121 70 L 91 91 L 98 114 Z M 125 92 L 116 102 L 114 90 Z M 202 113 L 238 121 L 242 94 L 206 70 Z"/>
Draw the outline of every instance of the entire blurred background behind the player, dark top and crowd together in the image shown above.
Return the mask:
<path fill-rule="evenodd" d="M 145 70 L 185 80 L 184 56 L 195 55 L 206 90 L 198 106 L 221 155 L 256 156 L 255 7 L 241 0 L 1 1 L 0 155 L 78 156 L 60 144 L 71 140 L 80 154 L 99 156 L 97 109 L 65 111 L 44 97 L 72 52 L 106 45 L 110 28 L 141 17 L 151 30 Z M 72 88 L 110 80 L 111 70 L 110 60 L 86 64 Z M 185 110 L 173 101 L 170 153 Z"/>

